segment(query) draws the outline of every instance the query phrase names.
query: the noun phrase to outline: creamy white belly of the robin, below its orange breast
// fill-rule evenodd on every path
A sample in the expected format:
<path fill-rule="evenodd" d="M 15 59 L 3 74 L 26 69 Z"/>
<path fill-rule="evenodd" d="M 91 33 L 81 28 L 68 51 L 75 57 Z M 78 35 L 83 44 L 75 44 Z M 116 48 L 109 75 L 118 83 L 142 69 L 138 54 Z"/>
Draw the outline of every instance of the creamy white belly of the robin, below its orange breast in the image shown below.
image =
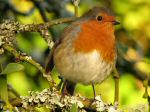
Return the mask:
<path fill-rule="evenodd" d="M 54 52 L 56 69 L 64 78 L 83 84 L 101 83 L 112 71 L 114 64 L 103 61 L 99 52 L 94 50 L 88 54 L 58 47 Z"/>

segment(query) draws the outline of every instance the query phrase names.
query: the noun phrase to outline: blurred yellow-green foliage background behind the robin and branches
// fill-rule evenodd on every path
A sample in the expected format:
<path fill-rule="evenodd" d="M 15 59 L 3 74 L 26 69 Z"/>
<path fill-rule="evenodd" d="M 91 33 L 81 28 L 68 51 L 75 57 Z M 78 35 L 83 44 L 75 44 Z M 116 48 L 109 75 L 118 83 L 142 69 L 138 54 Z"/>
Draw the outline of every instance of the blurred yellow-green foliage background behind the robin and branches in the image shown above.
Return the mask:
<path fill-rule="evenodd" d="M 117 67 L 120 72 L 120 104 L 146 104 L 142 98 L 142 81 L 150 74 L 150 1 L 149 0 L 81 0 L 79 15 L 94 6 L 107 6 L 117 16 L 121 25 L 116 27 L 118 47 Z M 73 16 L 71 0 L 1 0 L 0 19 L 13 19 L 20 23 L 43 23 L 60 17 Z M 49 31 L 54 40 L 59 38 L 66 24 L 52 27 Z M 17 49 L 31 55 L 44 66 L 48 46 L 38 33 L 21 33 L 14 42 Z M 108 43 L 109 44 L 109 43 Z M 3 68 L 14 58 L 9 53 L 0 55 Z M 48 83 L 32 65 L 22 62 L 24 71 L 8 74 L 8 83 L 20 95 L 28 95 L 29 90 L 41 91 Z M 53 78 L 58 83 L 58 73 L 53 70 Z M 136 78 L 135 78 L 136 77 Z M 149 89 L 150 92 L 150 89 Z M 92 87 L 78 84 L 76 93 L 93 97 Z M 114 93 L 113 78 L 96 85 L 96 94 L 104 101 L 112 102 Z"/>

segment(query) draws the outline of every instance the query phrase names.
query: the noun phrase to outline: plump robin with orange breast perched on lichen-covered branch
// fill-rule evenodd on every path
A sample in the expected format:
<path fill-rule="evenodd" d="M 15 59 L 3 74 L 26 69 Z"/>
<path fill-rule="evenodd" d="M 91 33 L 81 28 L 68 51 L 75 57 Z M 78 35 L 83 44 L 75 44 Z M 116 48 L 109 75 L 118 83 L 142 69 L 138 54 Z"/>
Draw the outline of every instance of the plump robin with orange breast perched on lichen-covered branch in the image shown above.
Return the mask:
<path fill-rule="evenodd" d="M 72 83 L 66 88 L 100 84 L 110 76 L 117 59 L 114 25 L 118 24 L 108 8 L 94 7 L 62 31 L 51 60 L 60 76 Z"/>

